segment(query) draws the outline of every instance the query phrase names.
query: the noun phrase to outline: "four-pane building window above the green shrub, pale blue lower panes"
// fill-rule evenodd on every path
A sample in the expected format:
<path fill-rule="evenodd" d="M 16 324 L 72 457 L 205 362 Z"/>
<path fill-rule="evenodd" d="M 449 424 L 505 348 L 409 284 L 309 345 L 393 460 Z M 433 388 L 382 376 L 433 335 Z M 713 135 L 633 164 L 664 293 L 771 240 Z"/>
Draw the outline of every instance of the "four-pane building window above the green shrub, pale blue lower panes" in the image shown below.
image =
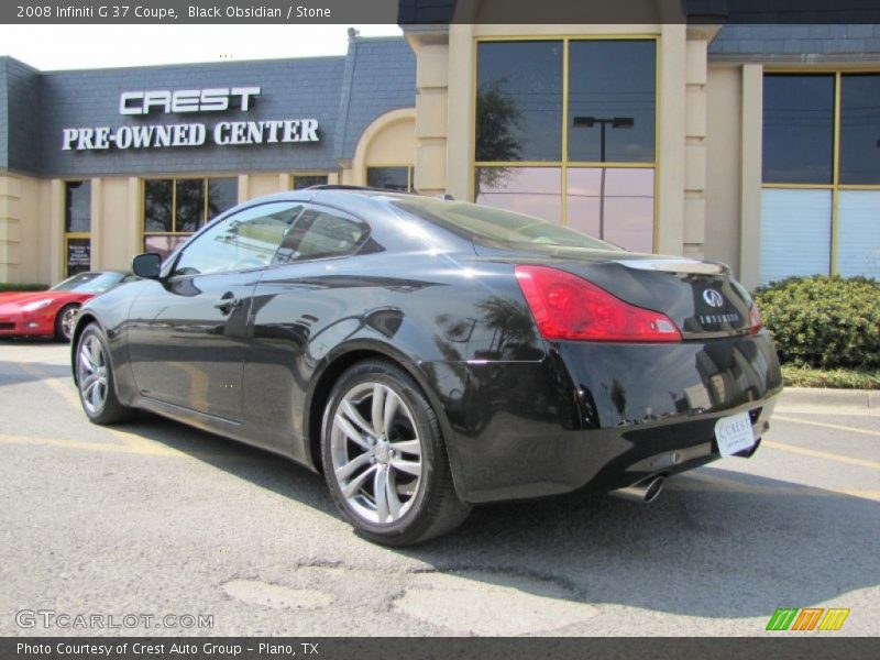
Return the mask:
<path fill-rule="evenodd" d="M 880 74 L 763 79 L 761 284 L 880 277 Z"/>

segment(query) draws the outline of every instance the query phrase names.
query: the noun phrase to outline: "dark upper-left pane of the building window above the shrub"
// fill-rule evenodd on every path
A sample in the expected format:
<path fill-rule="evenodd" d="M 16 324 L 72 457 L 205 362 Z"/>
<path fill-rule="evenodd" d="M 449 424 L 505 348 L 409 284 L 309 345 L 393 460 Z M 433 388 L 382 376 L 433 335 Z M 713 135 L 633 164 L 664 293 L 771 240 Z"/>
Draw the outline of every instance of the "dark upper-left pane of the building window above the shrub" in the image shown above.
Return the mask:
<path fill-rule="evenodd" d="M 763 180 L 831 184 L 834 76 L 765 76 Z"/>

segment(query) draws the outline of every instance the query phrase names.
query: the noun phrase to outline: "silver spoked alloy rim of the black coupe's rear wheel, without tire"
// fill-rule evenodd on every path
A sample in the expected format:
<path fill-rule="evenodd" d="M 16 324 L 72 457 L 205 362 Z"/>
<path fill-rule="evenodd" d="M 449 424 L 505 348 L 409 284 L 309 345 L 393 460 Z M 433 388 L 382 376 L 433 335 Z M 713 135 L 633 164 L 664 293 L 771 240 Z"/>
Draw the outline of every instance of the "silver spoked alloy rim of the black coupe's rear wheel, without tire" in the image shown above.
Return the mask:
<path fill-rule="evenodd" d="M 333 474 L 351 509 L 388 525 L 411 508 L 422 481 L 422 444 L 408 406 L 382 383 L 361 383 L 340 399 L 330 433 Z"/>

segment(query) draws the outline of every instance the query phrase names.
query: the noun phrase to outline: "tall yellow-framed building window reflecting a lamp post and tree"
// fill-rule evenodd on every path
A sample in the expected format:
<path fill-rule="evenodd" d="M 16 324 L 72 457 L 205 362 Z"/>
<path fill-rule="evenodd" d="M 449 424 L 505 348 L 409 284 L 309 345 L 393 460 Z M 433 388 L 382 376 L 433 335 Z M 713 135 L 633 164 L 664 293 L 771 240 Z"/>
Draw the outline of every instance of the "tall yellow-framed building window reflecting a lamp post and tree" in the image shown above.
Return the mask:
<path fill-rule="evenodd" d="M 477 44 L 474 199 L 650 252 L 657 41 Z"/>

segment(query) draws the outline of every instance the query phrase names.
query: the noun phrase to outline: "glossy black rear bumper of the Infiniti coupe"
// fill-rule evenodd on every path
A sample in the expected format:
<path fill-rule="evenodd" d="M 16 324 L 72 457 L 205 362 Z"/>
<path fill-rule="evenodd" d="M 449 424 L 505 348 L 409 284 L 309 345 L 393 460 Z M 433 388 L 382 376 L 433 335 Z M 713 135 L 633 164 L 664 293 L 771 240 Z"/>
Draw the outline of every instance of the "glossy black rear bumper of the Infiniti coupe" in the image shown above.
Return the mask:
<path fill-rule="evenodd" d="M 766 332 L 675 344 L 553 342 L 540 363 L 433 363 L 468 502 L 614 490 L 721 458 L 715 424 L 767 429 L 782 376 Z M 748 453 L 748 452 L 744 452 Z"/>

